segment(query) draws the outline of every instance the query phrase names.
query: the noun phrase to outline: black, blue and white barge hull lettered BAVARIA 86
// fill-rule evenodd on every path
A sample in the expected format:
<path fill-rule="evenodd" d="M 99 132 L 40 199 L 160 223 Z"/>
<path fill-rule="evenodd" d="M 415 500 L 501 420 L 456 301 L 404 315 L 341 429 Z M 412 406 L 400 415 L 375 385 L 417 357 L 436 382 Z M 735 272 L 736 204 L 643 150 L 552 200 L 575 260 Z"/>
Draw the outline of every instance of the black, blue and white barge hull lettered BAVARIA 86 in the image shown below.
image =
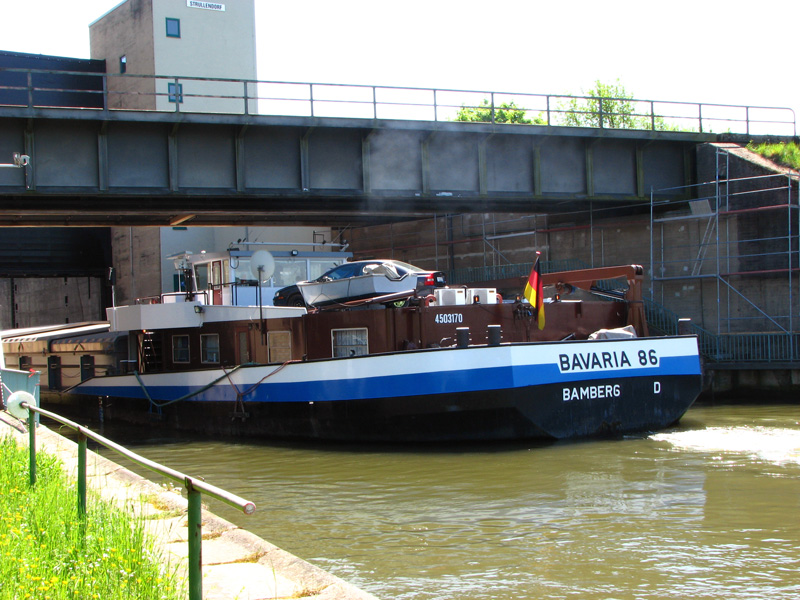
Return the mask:
<path fill-rule="evenodd" d="M 222 435 L 381 442 L 658 430 L 700 390 L 694 337 L 416 350 L 103 377 L 73 388 L 113 398 L 106 417 L 156 414 L 169 427 Z"/>

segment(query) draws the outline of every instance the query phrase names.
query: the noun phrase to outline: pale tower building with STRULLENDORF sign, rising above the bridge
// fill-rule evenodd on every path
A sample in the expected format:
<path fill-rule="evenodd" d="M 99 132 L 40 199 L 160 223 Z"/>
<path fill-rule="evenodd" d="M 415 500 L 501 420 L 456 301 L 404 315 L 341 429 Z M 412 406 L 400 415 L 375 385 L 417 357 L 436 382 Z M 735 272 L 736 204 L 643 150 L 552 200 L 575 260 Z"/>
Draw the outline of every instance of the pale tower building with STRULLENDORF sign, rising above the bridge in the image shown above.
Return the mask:
<path fill-rule="evenodd" d="M 245 111 L 242 80 L 256 79 L 254 0 L 126 0 L 89 35 L 92 58 L 107 65 L 112 108 Z"/>

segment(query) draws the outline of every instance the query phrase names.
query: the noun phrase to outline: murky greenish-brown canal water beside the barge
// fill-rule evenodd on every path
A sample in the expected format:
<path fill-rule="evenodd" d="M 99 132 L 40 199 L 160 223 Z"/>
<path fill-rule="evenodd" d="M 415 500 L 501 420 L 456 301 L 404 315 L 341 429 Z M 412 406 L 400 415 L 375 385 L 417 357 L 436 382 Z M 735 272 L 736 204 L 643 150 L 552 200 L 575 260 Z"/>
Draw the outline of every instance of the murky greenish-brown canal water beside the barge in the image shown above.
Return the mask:
<path fill-rule="evenodd" d="M 539 446 L 104 434 L 253 500 L 209 508 L 384 600 L 800 597 L 799 406 Z"/>

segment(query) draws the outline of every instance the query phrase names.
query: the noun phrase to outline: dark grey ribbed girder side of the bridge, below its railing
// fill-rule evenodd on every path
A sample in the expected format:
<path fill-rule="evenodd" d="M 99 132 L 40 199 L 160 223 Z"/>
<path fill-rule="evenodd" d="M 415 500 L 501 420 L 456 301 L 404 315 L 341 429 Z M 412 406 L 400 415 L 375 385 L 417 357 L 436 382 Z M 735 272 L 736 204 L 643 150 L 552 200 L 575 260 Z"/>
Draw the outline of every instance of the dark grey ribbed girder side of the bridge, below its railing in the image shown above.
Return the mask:
<path fill-rule="evenodd" d="M 6 226 L 352 222 L 649 201 L 651 186 L 691 182 L 691 151 L 704 141 L 483 123 L 6 112 L 0 156 L 31 156 L 26 170 L 0 170 Z"/>

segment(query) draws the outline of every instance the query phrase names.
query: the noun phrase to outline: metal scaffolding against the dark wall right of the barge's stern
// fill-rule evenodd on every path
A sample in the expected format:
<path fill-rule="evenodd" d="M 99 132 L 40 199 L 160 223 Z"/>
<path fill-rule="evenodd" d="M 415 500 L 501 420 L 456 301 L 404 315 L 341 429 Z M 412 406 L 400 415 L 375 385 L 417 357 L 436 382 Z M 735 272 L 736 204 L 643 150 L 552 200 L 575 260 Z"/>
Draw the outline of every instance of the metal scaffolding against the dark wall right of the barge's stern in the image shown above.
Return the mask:
<path fill-rule="evenodd" d="M 716 178 L 686 186 L 686 202 L 651 192 L 650 297 L 690 315 L 713 359 L 799 360 L 798 177 L 731 178 L 724 148 L 715 161 Z"/>

